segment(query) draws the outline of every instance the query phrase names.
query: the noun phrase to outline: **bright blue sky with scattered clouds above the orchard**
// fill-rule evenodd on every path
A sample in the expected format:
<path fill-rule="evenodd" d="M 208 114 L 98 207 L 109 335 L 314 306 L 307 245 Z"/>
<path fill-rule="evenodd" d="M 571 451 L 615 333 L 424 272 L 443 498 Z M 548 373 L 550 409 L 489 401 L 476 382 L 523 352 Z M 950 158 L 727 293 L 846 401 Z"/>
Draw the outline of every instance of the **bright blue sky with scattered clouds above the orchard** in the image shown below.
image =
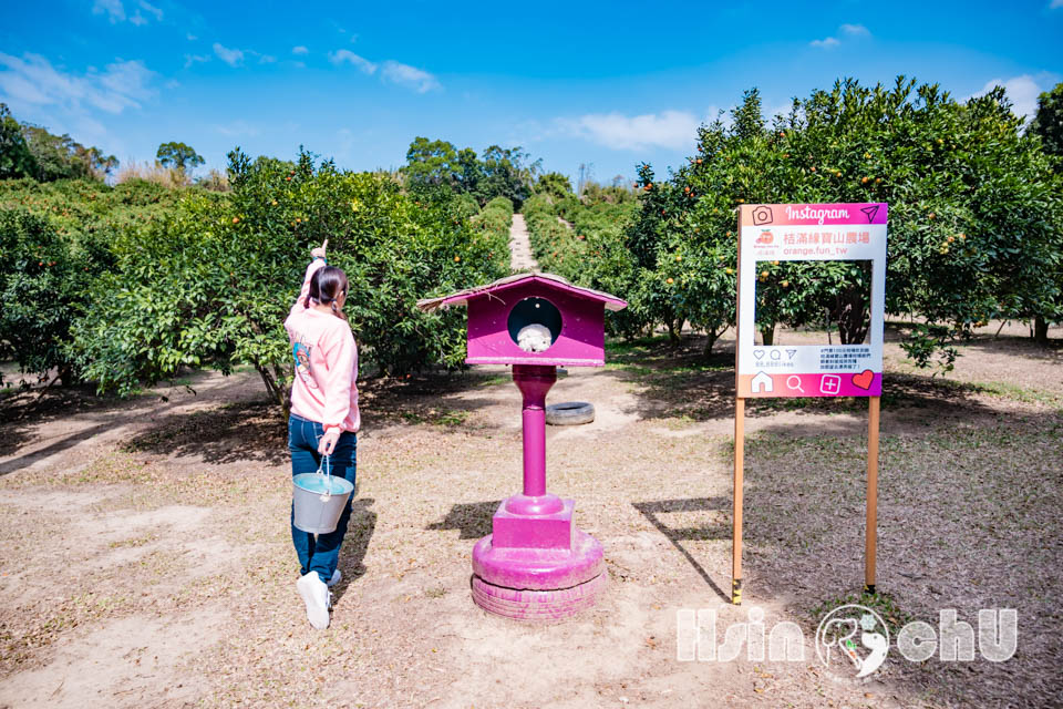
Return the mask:
<path fill-rule="evenodd" d="M 765 109 L 897 74 L 1020 113 L 1063 81 L 1063 0 L 798 3 L 20 2 L 0 27 L 0 101 L 123 162 L 183 141 L 398 167 L 414 136 L 520 145 L 596 179 L 659 171 L 757 86 Z"/>

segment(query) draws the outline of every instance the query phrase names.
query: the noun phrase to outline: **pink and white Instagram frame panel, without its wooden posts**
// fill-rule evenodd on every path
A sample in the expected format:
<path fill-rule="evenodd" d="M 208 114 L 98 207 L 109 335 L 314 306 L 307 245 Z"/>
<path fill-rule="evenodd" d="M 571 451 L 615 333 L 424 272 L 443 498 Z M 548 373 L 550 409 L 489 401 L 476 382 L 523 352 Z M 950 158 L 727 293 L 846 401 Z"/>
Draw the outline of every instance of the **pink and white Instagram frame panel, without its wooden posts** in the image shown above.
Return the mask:
<path fill-rule="evenodd" d="M 740 398 L 881 395 L 887 212 L 883 203 L 742 206 L 736 352 Z M 868 340 L 858 345 L 756 345 L 757 263 L 814 260 L 871 263 Z"/>

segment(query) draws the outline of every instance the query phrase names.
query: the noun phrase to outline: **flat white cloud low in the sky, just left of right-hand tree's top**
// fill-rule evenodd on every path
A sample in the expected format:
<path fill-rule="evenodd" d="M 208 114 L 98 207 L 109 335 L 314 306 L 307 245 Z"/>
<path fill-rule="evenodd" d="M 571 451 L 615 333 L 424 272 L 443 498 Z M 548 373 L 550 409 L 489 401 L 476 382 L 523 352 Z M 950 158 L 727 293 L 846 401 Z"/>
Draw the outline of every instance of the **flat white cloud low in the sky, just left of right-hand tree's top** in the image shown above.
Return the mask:
<path fill-rule="evenodd" d="M 701 121 L 687 111 L 662 111 L 627 116 L 621 113 L 590 113 L 579 119 L 561 119 L 558 124 L 574 135 L 613 150 L 693 147 Z"/>

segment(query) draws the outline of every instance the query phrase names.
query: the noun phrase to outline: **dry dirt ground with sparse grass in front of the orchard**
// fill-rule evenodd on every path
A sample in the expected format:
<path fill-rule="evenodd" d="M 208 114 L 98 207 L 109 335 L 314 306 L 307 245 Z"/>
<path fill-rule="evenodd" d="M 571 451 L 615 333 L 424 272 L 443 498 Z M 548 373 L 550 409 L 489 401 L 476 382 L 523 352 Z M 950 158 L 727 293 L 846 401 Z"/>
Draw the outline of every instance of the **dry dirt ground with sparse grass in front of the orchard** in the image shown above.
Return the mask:
<path fill-rule="evenodd" d="M 863 583 L 864 402 L 750 407 L 744 605 L 727 604 L 733 341 L 706 362 L 690 338 L 611 347 L 606 369 L 550 393 L 597 407 L 549 429 L 547 481 L 576 499 L 609 573 L 597 607 L 550 625 L 469 598 L 472 546 L 519 489 L 505 368 L 363 383 L 326 631 L 296 593 L 285 430 L 254 373 L 128 401 L 9 393 L 0 707 L 1059 705 L 1063 331 L 1038 348 L 994 330 L 947 379 L 887 343 L 878 587 L 890 623 L 1018 609 L 1005 662 L 895 650 L 866 685 L 817 664 L 821 613 Z M 677 612 L 709 608 L 721 628 L 751 608 L 796 621 L 805 661 L 679 661 Z"/>

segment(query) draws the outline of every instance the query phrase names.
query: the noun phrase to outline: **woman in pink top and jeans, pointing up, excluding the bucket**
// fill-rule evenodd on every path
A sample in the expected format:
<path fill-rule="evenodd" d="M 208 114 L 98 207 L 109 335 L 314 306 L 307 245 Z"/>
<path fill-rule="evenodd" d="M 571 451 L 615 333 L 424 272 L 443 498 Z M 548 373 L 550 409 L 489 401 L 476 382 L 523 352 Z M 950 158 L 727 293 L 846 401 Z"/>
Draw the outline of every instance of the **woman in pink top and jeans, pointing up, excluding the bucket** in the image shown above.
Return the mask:
<path fill-rule="evenodd" d="M 326 263 L 328 245 L 326 239 L 311 251 L 313 260 L 307 267 L 299 299 L 285 320 L 296 364 L 288 449 L 292 476 L 316 472 L 322 456 L 328 456 L 332 474 L 354 484 L 355 433 L 361 424 L 355 387 L 358 348 L 343 315 L 347 275 Z M 291 541 L 301 567 L 296 588 L 314 628 L 329 627 L 329 586 L 340 580 L 337 563 L 350 517 L 348 499 L 336 531 L 314 535 L 296 528 L 292 508 Z"/>

